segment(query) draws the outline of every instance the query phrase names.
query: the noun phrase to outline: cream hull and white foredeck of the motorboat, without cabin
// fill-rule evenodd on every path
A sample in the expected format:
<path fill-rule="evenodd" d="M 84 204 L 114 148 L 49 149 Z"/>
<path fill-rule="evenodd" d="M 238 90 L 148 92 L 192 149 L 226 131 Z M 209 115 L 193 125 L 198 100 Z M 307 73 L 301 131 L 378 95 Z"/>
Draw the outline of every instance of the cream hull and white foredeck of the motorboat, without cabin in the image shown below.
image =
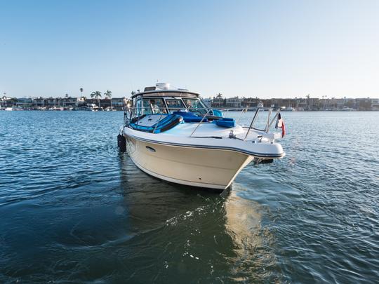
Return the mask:
<path fill-rule="evenodd" d="M 149 175 L 168 182 L 213 189 L 229 187 L 254 158 L 284 156 L 281 145 L 274 140 L 255 142 L 230 139 L 230 130 L 218 132 L 219 128 L 213 123 L 201 125 L 197 130 L 199 136 L 189 137 L 188 133 L 194 127 L 195 123 L 185 123 L 160 134 L 126 127 L 123 131 L 126 151 L 135 165 Z M 239 131 L 239 135 L 244 135 L 246 131 L 241 127 L 233 129 L 236 133 Z M 180 132 L 180 135 L 175 131 Z M 201 133 L 212 133 L 219 137 Z"/>

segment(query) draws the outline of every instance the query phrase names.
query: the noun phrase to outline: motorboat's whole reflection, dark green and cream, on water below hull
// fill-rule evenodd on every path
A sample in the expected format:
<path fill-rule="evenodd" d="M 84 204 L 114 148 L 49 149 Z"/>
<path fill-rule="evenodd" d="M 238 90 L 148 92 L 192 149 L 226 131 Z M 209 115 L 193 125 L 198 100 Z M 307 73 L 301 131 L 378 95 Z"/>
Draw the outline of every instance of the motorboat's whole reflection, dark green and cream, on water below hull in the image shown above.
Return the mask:
<path fill-rule="evenodd" d="M 222 194 L 163 182 L 121 156 L 123 201 L 119 212 L 128 226 L 117 257 L 128 280 L 175 282 L 275 280 L 259 203 L 239 197 L 233 184 Z M 125 274 L 124 274 L 125 275 Z"/>

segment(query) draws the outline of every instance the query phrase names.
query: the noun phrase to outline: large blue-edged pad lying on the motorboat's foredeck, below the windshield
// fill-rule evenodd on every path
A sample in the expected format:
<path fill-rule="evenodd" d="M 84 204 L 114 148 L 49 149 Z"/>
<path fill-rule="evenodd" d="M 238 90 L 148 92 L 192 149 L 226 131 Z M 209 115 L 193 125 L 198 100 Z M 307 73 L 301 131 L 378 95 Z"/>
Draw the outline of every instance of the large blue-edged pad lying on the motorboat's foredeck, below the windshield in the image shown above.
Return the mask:
<path fill-rule="evenodd" d="M 154 116 L 159 116 L 160 120 L 157 123 L 154 123 L 150 126 L 144 126 L 141 123 L 138 123 L 140 119 L 143 119 L 145 116 L 141 116 L 137 120 L 134 120 L 130 123 L 131 128 L 139 131 L 149 132 L 149 133 L 161 133 L 166 130 L 169 130 L 183 121 L 182 116 L 177 114 L 154 114 Z M 161 118 L 164 116 L 163 118 Z"/>

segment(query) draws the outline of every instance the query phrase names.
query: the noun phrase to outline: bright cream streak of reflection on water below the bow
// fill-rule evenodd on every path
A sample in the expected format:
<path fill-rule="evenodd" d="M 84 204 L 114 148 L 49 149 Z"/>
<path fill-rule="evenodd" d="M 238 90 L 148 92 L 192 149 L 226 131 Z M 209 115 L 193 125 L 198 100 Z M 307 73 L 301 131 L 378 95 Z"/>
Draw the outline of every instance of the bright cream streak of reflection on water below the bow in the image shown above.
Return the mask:
<path fill-rule="evenodd" d="M 233 190 L 225 201 L 225 231 L 232 238 L 235 256 L 232 263 L 234 280 L 277 280 L 270 275 L 270 267 L 276 265 L 272 252 L 274 236 L 262 226 L 265 208 L 255 201 L 241 198 L 239 192 L 246 191 L 234 183 Z"/>

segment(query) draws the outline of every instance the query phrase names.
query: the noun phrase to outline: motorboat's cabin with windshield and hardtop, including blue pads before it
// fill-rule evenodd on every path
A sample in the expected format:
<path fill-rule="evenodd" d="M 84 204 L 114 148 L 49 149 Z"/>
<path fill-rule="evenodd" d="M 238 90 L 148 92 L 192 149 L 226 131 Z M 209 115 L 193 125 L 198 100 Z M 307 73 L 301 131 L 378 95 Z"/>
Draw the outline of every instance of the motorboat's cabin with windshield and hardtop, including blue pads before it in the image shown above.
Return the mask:
<path fill-rule="evenodd" d="M 171 89 L 167 83 L 157 83 L 131 97 L 132 106 L 126 114 L 125 125 L 149 133 L 161 133 L 180 123 L 215 121 L 222 127 L 234 127 L 234 119 L 225 119 L 222 111 L 210 109 L 198 93 Z"/>

